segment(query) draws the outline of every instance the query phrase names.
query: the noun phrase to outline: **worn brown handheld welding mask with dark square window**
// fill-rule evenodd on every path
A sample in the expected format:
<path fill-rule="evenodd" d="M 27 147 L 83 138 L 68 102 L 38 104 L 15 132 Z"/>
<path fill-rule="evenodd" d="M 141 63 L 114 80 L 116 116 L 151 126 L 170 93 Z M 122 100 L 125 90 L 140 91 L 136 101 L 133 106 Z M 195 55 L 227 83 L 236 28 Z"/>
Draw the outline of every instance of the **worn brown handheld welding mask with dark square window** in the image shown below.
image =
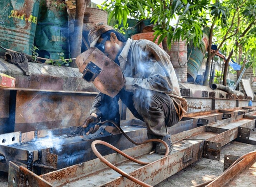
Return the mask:
<path fill-rule="evenodd" d="M 76 58 L 76 65 L 87 82 L 93 82 L 103 94 L 114 97 L 123 88 L 123 72 L 114 61 L 96 47 L 91 47 Z"/>

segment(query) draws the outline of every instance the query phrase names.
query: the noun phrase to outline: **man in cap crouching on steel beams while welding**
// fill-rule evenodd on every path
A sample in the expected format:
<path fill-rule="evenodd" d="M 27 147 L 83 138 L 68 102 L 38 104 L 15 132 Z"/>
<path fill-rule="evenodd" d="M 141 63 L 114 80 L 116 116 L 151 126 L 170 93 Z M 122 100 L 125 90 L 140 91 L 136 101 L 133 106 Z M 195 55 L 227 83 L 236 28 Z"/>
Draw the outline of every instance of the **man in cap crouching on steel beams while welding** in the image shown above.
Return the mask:
<path fill-rule="evenodd" d="M 120 72 L 124 77 L 124 84 L 116 85 L 122 87 L 114 97 L 103 92 L 95 97 L 90 116 L 82 125 L 84 128 L 93 125 L 86 134 L 93 134 L 99 130 L 100 121 L 113 120 L 120 125 L 118 100 L 121 99 L 136 118 L 146 123 L 148 139 L 164 140 L 171 152 L 171 135 L 167 131 L 167 127 L 175 125 L 182 118 L 188 105 L 186 100 L 181 97 L 178 80 L 169 55 L 149 40 L 126 39 L 104 23 L 96 24 L 90 30 L 88 40 L 90 49 L 96 47 L 97 50 L 99 49 L 98 53 L 105 54 L 104 59 L 110 58 L 118 65 L 117 67 L 122 70 Z M 81 65 L 83 63 L 81 61 L 77 60 L 76 62 L 80 69 L 82 68 L 80 72 L 84 73 L 85 79 L 91 78 L 97 69 L 91 70 L 91 72 L 88 72 L 88 69 L 96 66 L 92 67 L 87 64 L 87 68 L 85 68 Z M 97 62 L 102 63 L 103 66 L 106 64 Z M 89 63 L 93 64 L 91 61 Z M 108 76 L 104 79 L 114 82 L 118 78 Z M 98 81 L 98 83 L 105 80 Z M 96 86 L 96 83 L 94 84 Z M 165 154 L 164 145 L 155 144 L 156 153 Z"/>

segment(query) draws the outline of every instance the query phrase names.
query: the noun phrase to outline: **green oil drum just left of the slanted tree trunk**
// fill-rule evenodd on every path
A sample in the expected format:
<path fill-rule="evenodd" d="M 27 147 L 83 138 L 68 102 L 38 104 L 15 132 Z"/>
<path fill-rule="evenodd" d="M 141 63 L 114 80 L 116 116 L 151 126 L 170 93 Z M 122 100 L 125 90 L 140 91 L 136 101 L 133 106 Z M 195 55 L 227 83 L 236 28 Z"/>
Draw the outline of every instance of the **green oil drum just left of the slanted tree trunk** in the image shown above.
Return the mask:
<path fill-rule="evenodd" d="M 47 51 L 51 59 L 70 58 L 67 4 L 61 0 L 41 0 L 34 45 Z M 59 53 L 59 54 L 57 54 Z"/>

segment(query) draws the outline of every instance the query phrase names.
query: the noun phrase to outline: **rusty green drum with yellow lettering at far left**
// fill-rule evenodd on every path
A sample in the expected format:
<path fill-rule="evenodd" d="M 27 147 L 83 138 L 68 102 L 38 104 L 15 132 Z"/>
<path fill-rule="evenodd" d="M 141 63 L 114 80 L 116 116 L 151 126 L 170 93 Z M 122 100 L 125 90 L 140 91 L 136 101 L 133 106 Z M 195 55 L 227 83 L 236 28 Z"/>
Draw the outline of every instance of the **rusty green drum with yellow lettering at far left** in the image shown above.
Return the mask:
<path fill-rule="evenodd" d="M 39 0 L 0 0 L 0 45 L 32 54 Z M 0 52 L 4 51 L 0 49 Z"/>

